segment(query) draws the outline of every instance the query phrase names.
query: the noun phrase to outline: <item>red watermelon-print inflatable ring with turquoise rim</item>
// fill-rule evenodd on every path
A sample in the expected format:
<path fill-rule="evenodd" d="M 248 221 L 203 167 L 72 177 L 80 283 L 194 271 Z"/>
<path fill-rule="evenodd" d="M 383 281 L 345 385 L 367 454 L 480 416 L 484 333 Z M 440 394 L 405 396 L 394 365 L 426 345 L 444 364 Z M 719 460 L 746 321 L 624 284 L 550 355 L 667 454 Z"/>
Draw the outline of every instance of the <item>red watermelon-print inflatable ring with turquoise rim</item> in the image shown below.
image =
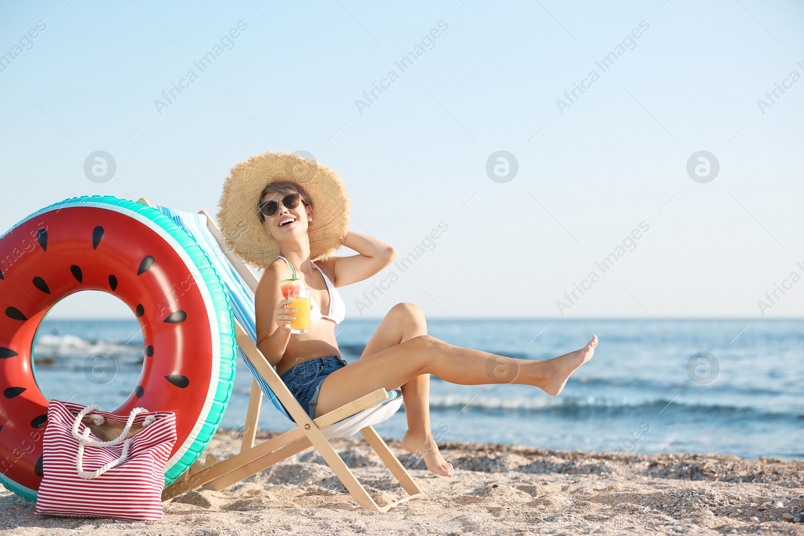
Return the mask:
<path fill-rule="evenodd" d="M 142 325 L 142 373 L 113 412 L 175 412 L 166 485 L 207 447 L 232 395 L 232 309 L 186 231 L 155 208 L 113 197 L 72 198 L 35 212 L 0 236 L 0 482 L 29 500 L 42 480 L 47 424 L 33 370 L 35 333 L 55 303 L 81 290 L 112 293 Z"/>

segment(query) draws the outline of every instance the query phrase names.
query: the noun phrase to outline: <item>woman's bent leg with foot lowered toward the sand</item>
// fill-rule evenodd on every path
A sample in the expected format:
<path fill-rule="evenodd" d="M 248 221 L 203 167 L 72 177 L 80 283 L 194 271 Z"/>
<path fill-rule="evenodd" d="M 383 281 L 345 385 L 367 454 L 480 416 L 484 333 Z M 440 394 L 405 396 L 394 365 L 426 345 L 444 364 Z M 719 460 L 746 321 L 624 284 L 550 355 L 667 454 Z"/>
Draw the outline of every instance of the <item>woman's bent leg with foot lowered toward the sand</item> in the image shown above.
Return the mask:
<path fill-rule="evenodd" d="M 377 326 L 360 359 L 371 359 L 382 350 L 426 334 L 427 321 L 421 309 L 411 303 L 396 304 Z M 420 374 L 403 383 L 402 397 L 408 419 L 402 448 L 422 456 L 433 473 L 451 477 L 453 466 L 441 456 L 430 430 L 430 374 Z"/>

